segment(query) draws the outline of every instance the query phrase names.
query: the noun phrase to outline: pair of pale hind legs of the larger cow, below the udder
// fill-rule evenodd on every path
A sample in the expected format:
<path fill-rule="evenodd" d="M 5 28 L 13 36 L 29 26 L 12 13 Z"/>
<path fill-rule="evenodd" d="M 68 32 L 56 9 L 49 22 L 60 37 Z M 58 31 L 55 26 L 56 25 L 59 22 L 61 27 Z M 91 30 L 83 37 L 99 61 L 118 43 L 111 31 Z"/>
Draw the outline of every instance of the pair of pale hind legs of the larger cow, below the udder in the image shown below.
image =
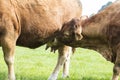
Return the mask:
<path fill-rule="evenodd" d="M 59 56 L 58 56 L 58 62 L 57 62 L 57 65 L 53 71 L 53 73 L 51 74 L 51 76 L 48 78 L 48 80 L 56 80 L 57 79 L 57 76 L 58 76 L 58 73 L 60 71 L 60 68 L 63 66 L 63 64 L 69 60 L 67 59 L 67 56 L 69 55 L 69 52 L 71 51 L 71 47 L 68 47 L 68 46 L 63 46 L 61 48 L 59 48 L 58 52 L 59 52 Z M 69 61 L 68 61 L 69 62 Z M 68 63 L 67 65 L 64 65 L 64 73 L 67 75 L 69 74 L 68 72 L 69 71 L 66 71 L 66 70 L 69 70 L 67 68 L 69 67 L 66 67 L 68 66 Z"/>

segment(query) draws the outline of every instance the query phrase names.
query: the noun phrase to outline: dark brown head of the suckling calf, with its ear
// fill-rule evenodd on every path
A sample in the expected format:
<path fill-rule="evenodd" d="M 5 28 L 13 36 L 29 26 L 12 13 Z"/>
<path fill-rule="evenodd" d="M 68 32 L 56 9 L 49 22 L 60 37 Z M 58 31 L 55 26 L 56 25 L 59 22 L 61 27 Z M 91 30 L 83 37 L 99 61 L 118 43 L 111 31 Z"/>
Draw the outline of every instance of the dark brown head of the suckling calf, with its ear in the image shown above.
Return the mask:
<path fill-rule="evenodd" d="M 80 41 L 82 39 L 81 33 L 82 28 L 80 26 L 79 19 L 72 19 L 71 21 L 63 24 L 57 38 L 60 42 L 70 45 L 70 43 Z"/>

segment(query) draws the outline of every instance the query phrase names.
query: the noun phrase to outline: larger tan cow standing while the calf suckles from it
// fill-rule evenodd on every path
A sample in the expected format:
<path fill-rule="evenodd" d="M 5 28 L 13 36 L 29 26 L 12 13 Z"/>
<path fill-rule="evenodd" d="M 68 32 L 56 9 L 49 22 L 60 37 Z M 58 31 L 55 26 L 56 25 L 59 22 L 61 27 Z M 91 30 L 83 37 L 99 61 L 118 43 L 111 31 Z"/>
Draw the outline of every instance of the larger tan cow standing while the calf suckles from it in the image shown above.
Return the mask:
<path fill-rule="evenodd" d="M 79 0 L 0 0 L 0 45 L 8 67 L 8 79 L 16 79 L 16 45 L 34 49 L 49 43 L 65 22 L 81 16 L 81 10 Z M 62 65 L 63 76 L 69 74 L 68 63 L 72 48 L 62 45 L 58 52 L 58 63 L 49 80 L 56 80 Z"/>

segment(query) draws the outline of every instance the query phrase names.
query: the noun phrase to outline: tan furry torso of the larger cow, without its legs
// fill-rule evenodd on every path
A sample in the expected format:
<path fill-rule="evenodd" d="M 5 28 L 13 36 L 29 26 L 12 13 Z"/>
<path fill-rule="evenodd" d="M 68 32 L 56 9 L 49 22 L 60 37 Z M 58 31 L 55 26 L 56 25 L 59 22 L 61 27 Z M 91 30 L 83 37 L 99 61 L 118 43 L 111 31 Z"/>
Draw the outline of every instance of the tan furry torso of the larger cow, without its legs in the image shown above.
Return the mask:
<path fill-rule="evenodd" d="M 36 48 L 55 36 L 54 33 L 61 29 L 64 22 L 80 16 L 81 12 L 78 9 L 81 6 L 76 5 L 76 1 L 1 0 L 0 14 L 2 19 L 9 19 L 11 25 L 14 25 L 13 29 L 19 36 L 17 45 Z M 78 10 L 77 13 L 73 11 L 75 9 Z"/>

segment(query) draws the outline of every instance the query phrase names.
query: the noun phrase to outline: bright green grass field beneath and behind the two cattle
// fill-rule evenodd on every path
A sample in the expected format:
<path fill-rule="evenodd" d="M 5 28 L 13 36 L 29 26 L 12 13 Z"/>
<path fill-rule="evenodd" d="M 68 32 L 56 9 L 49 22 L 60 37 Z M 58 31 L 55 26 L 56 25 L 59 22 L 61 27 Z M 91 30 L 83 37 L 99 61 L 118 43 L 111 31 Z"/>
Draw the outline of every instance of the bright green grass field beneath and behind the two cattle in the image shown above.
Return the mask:
<path fill-rule="evenodd" d="M 52 73 L 57 53 L 45 51 L 45 46 L 37 49 L 16 47 L 15 73 L 17 80 L 47 80 Z M 70 77 L 62 79 L 62 69 L 58 80 L 110 80 L 113 64 L 95 51 L 78 48 L 71 57 Z M 7 80 L 7 66 L 0 48 L 0 80 Z"/>

